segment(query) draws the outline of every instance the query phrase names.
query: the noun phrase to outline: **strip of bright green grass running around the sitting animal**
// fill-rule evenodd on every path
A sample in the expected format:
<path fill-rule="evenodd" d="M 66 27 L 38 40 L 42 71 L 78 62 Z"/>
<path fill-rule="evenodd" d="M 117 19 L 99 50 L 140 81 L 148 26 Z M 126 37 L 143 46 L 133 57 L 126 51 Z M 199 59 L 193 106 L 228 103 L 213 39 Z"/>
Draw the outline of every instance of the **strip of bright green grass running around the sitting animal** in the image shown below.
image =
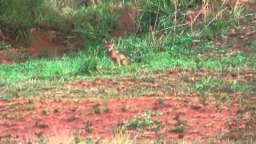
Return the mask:
<path fill-rule="evenodd" d="M 129 39 L 130 40 L 130 39 Z M 130 40 L 132 41 L 132 40 Z M 126 42 L 126 39 L 123 40 Z M 127 42 L 127 45 L 130 45 Z M 134 43 L 134 47 L 128 50 L 124 46 L 127 53 L 133 54 L 136 45 L 140 47 L 141 43 Z M 121 50 L 116 46 L 117 49 Z M 148 52 L 142 52 L 141 62 L 134 62 L 131 66 L 114 66 L 109 58 L 105 58 L 102 54 L 104 50 L 101 43 L 98 48 L 94 46 L 79 52 L 63 56 L 62 58 L 31 59 L 22 64 L 0 65 L 0 83 L 14 84 L 16 82 L 24 82 L 28 80 L 65 80 L 79 78 L 84 76 L 97 75 L 114 75 L 133 74 L 141 72 L 139 67 L 150 66 L 152 70 L 170 68 L 182 69 L 209 69 L 209 70 L 255 70 L 256 58 L 247 57 L 246 54 L 234 53 L 232 55 L 223 55 L 218 53 L 217 48 L 213 50 L 206 49 L 206 46 L 186 47 L 182 45 L 166 46 L 166 51 L 156 54 L 154 47 Z M 127 49 L 127 50 L 126 50 Z M 95 54 L 94 53 L 95 50 Z M 100 51 L 101 50 L 101 51 Z M 211 54 L 208 56 L 205 53 Z M 133 55 L 132 55 L 133 56 Z"/>

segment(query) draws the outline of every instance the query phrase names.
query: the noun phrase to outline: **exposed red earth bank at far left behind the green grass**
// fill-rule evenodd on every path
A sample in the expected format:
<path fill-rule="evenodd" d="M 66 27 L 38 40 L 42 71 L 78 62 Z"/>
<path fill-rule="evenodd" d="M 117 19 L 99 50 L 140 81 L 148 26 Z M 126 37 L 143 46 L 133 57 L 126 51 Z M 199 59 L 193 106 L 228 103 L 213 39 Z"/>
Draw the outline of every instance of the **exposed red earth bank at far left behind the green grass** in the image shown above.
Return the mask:
<path fill-rule="evenodd" d="M 21 54 L 26 54 L 28 57 L 33 57 L 42 54 L 47 54 L 47 57 L 54 58 L 58 55 L 68 52 L 64 43 L 59 42 L 55 31 L 39 31 L 30 30 L 30 44 L 22 46 L 18 49 L 0 50 L 0 63 L 13 64 L 15 62 L 24 62 Z"/>

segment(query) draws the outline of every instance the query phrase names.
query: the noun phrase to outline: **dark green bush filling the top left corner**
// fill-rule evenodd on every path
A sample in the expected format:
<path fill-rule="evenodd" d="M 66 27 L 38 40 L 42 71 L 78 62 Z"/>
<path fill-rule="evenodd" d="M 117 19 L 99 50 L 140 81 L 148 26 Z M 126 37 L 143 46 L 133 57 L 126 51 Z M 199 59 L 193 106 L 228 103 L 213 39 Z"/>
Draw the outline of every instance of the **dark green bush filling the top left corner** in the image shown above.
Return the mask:
<path fill-rule="evenodd" d="M 26 31 L 34 26 L 43 0 L 0 0 L 0 26 L 18 40 L 27 38 Z"/>

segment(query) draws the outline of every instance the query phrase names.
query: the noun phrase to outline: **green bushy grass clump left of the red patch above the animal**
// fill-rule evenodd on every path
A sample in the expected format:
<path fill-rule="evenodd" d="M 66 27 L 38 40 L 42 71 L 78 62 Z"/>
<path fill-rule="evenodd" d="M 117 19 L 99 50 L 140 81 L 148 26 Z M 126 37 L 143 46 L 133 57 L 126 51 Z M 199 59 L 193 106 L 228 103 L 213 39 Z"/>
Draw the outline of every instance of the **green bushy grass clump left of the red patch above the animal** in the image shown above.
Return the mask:
<path fill-rule="evenodd" d="M 83 34 L 86 38 L 102 39 L 109 35 L 110 30 L 114 27 L 118 15 L 118 8 L 113 9 L 110 2 L 100 2 L 97 5 L 91 5 L 80 8 L 74 14 L 74 29 Z"/>

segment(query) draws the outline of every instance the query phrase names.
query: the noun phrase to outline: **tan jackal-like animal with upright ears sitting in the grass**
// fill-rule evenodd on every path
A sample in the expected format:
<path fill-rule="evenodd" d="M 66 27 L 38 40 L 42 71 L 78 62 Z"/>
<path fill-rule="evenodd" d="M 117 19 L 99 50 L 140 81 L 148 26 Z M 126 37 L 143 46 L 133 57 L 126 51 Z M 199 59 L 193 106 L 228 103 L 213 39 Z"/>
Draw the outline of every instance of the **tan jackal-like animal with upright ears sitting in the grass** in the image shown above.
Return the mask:
<path fill-rule="evenodd" d="M 110 42 L 104 40 L 103 43 L 106 49 L 106 55 L 111 58 L 114 63 L 122 66 L 130 64 L 130 57 L 126 56 L 122 51 L 114 50 L 114 39 L 111 39 Z"/>

